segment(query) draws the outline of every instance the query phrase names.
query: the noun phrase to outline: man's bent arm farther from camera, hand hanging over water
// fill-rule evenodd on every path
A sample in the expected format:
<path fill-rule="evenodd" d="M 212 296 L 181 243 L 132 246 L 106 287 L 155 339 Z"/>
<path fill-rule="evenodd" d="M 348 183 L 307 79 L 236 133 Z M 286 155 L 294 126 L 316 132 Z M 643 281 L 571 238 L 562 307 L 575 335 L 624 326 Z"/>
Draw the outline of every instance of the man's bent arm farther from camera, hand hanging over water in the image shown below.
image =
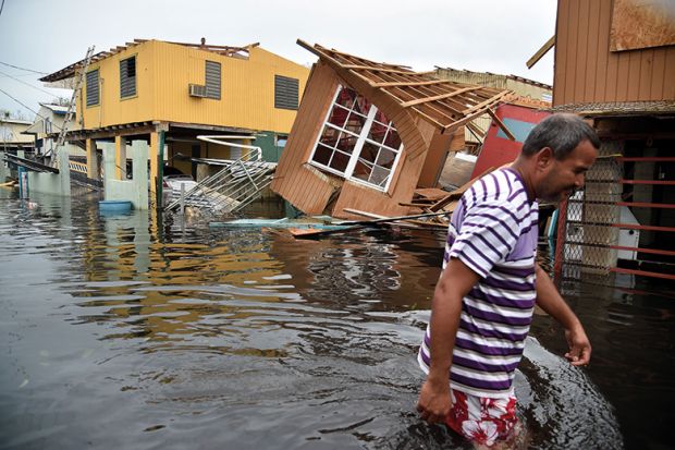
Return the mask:
<path fill-rule="evenodd" d="M 588 364 L 591 345 L 581 323 L 557 292 L 549 273 L 538 264 L 536 270 L 537 304 L 565 328 L 565 338 L 569 345 L 569 351 L 565 353 L 565 357 L 575 366 Z"/>

